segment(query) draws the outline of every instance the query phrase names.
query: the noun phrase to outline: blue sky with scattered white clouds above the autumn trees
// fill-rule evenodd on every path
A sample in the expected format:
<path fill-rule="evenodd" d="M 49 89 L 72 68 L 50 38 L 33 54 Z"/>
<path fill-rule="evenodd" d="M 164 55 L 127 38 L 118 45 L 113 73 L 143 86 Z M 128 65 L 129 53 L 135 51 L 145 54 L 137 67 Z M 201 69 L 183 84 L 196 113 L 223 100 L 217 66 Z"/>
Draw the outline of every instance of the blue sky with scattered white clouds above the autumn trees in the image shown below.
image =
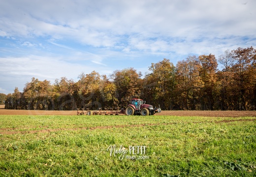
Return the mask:
<path fill-rule="evenodd" d="M 0 0 L 0 93 L 256 48 L 256 0 Z M 221 68 L 221 66 L 219 66 Z"/>

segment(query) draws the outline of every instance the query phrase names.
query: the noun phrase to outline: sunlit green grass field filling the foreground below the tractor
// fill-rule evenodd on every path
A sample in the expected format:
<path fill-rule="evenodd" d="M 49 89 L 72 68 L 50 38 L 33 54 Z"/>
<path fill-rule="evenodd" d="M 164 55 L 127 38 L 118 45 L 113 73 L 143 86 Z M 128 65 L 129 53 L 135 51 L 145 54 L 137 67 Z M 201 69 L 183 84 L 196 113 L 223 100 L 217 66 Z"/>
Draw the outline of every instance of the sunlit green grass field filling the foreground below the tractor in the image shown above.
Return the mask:
<path fill-rule="evenodd" d="M 256 118 L 0 116 L 5 176 L 255 177 Z"/>

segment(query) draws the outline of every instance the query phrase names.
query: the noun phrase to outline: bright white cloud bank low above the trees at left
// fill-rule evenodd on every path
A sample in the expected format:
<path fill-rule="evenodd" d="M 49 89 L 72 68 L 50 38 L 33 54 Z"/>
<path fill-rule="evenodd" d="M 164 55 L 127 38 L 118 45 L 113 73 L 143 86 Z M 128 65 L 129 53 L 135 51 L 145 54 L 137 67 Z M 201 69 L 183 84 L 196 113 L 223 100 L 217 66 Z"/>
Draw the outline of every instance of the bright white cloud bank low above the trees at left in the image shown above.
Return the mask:
<path fill-rule="evenodd" d="M 93 70 L 100 74 L 109 74 L 111 71 L 99 62 L 75 63 L 64 61 L 54 56 L 27 56 L 22 58 L 0 58 L 0 88 L 12 92 L 15 87 L 24 88 L 32 77 L 39 80 L 49 80 L 54 83 L 55 79 L 67 77 L 76 79 L 82 72 L 90 73 Z M 103 66 L 102 66 L 103 65 Z M 9 88 L 8 85 L 15 85 Z M 6 92 L 6 91 L 5 91 Z"/>

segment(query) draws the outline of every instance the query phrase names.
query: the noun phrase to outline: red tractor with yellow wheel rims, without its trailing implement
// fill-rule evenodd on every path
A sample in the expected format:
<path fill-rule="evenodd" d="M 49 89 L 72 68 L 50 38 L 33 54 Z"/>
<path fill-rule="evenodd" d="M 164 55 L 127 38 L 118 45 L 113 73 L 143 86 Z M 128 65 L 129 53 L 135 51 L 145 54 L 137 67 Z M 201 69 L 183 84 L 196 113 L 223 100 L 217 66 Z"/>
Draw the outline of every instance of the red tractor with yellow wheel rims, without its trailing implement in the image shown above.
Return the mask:
<path fill-rule="evenodd" d="M 142 116 L 149 116 L 154 115 L 155 113 L 160 113 L 160 108 L 153 108 L 152 105 L 145 104 L 146 101 L 142 99 L 133 98 L 131 99 L 131 104 L 129 104 L 126 108 L 126 115 L 142 115 Z"/>

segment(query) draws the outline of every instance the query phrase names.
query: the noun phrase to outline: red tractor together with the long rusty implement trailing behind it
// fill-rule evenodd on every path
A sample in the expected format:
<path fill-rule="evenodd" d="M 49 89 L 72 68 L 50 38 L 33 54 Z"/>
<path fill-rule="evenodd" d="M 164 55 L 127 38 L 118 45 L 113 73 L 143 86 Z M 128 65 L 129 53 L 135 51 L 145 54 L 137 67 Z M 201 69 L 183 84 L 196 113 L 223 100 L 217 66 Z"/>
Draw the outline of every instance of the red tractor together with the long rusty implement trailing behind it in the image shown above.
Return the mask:
<path fill-rule="evenodd" d="M 152 105 L 146 104 L 146 101 L 143 101 L 142 99 L 137 99 L 133 98 L 130 101 L 130 104 L 127 106 L 126 109 L 121 109 L 119 108 L 99 108 L 98 111 L 91 111 L 89 108 L 84 108 L 81 109 L 81 112 L 79 109 L 77 109 L 76 115 L 127 115 L 127 116 L 132 116 L 132 115 L 141 115 L 141 116 L 149 116 L 149 115 L 154 115 L 155 113 L 160 113 L 161 109 L 160 108 L 153 108 Z"/>

